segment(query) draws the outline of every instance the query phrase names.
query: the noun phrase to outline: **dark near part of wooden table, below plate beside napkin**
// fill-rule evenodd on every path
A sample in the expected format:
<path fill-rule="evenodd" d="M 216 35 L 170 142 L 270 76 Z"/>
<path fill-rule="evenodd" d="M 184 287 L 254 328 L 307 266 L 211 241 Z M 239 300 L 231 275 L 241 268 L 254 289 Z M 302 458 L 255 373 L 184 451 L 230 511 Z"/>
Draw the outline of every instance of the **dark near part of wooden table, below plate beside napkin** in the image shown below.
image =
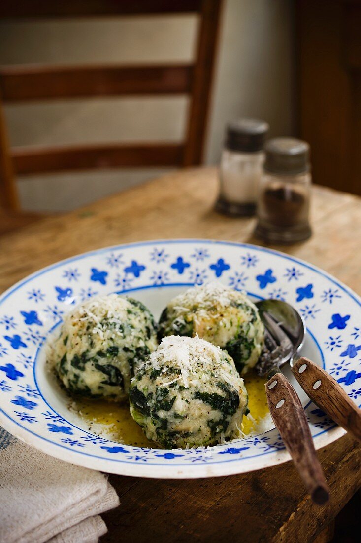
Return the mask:
<path fill-rule="evenodd" d="M 172 481 L 112 475 L 120 506 L 102 515 L 102 543 L 313 541 L 361 485 L 360 447 L 347 435 L 318 451 L 330 501 L 315 505 L 292 462 L 230 477 Z"/>

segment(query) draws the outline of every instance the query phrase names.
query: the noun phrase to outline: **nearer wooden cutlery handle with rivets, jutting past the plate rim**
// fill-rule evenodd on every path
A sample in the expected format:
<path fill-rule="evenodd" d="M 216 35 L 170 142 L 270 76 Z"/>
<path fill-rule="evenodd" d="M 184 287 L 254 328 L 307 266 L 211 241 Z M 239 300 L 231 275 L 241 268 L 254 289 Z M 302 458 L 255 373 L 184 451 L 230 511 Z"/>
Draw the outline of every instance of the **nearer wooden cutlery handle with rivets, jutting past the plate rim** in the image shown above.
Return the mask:
<path fill-rule="evenodd" d="M 287 378 L 277 373 L 266 383 L 267 402 L 274 424 L 304 481 L 312 500 L 327 502 L 330 493 L 298 395 Z"/>

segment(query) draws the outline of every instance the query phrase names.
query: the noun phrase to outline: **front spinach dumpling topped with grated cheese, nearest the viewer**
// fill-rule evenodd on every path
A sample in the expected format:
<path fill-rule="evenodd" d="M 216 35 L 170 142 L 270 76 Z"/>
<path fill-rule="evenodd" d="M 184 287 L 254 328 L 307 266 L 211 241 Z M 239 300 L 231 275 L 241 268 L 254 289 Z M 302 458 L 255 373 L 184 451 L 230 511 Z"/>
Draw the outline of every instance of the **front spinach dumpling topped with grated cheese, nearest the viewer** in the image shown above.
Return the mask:
<path fill-rule="evenodd" d="M 198 337 L 162 340 L 133 378 L 130 411 L 166 449 L 241 437 L 248 396 L 227 352 Z"/>

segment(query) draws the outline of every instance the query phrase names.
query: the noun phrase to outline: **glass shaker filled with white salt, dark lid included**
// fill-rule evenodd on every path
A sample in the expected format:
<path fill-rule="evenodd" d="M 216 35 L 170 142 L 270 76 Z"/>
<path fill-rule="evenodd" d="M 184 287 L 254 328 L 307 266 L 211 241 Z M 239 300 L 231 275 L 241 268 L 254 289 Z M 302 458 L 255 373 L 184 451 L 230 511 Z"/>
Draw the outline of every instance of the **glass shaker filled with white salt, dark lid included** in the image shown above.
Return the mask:
<path fill-rule="evenodd" d="M 222 151 L 217 211 L 233 216 L 255 213 L 268 129 L 267 123 L 256 119 L 240 119 L 228 125 Z"/>

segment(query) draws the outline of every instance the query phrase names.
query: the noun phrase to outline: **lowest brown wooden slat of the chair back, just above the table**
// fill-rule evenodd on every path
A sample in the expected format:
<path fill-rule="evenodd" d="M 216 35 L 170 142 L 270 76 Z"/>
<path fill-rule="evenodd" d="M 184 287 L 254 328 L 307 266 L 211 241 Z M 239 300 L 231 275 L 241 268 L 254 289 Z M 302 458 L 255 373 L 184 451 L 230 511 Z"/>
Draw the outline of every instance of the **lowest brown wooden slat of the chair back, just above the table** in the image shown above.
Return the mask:
<path fill-rule="evenodd" d="M 98 144 L 72 147 L 12 149 L 17 174 L 92 168 L 179 166 L 183 143 Z"/>

